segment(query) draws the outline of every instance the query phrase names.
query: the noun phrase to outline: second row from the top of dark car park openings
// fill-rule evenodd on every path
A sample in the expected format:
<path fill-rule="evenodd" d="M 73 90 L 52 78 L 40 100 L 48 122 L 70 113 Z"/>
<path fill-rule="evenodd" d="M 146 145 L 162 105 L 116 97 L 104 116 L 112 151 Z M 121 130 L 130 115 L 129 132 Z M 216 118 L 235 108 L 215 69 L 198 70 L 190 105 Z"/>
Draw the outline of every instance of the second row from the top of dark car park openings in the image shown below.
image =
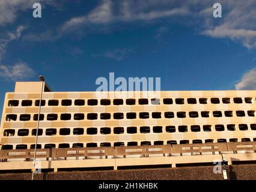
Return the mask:
<path fill-rule="evenodd" d="M 201 117 L 202 118 L 209 118 L 210 117 L 210 112 L 209 111 L 202 111 L 201 113 Z M 199 114 L 197 111 L 194 112 L 188 112 L 189 118 L 198 118 Z M 227 110 L 224 113 L 222 113 L 221 111 L 213 111 L 212 115 L 213 117 L 222 117 L 222 116 L 226 116 L 226 117 L 232 117 L 234 116 L 233 114 L 234 112 L 231 110 Z M 247 112 L 243 111 L 243 110 L 237 110 L 236 112 L 236 116 L 238 117 L 242 117 L 242 116 L 246 116 L 246 114 L 248 116 L 255 116 L 255 110 L 248 110 Z M 176 113 L 177 118 L 186 118 L 186 112 L 177 112 Z M 163 113 L 164 118 L 174 118 L 174 112 L 164 112 Z M 111 119 L 111 113 L 100 113 L 99 115 L 100 119 Z M 113 118 L 114 119 L 124 119 L 125 115 L 124 113 L 114 113 L 113 114 Z M 151 113 L 151 117 L 154 119 L 159 119 L 159 118 L 163 118 L 162 117 L 162 112 L 152 112 Z M 129 112 L 126 113 L 126 119 L 136 119 L 137 118 L 137 114 L 136 112 Z M 139 119 L 148 119 L 150 118 L 150 113 L 148 112 L 139 112 Z M 47 121 L 56 121 L 58 119 L 58 114 L 52 113 L 52 114 L 47 114 L 46 116 Z M 63 121 L 69 121 L 72 119 L 72 115 L 70 113 L 63 113 L 60 116 L 60 119 Z M 85 119 L 85 114 L 84 113 L 75 113 L 74 120 L 84 120 Z M 87 113 L 87 119 L 88 120 L 96 120 L 98 119 L 98 114 L 97 113 Z M 31 115 L 30 114 L 22 114 L 20 115 L 19 118 L 20 121 L 30 121 L 31 120 Z M 33 120 L 37 121 L 38 120 L 38 114 L 35 114 L 33 116 Z M 44 120 L 44 114 L 40 114 L 40 121 Z M 8 114 L 6 116 L 6 121 L 17 121 L 17 115 L 16 114 Z"/>

